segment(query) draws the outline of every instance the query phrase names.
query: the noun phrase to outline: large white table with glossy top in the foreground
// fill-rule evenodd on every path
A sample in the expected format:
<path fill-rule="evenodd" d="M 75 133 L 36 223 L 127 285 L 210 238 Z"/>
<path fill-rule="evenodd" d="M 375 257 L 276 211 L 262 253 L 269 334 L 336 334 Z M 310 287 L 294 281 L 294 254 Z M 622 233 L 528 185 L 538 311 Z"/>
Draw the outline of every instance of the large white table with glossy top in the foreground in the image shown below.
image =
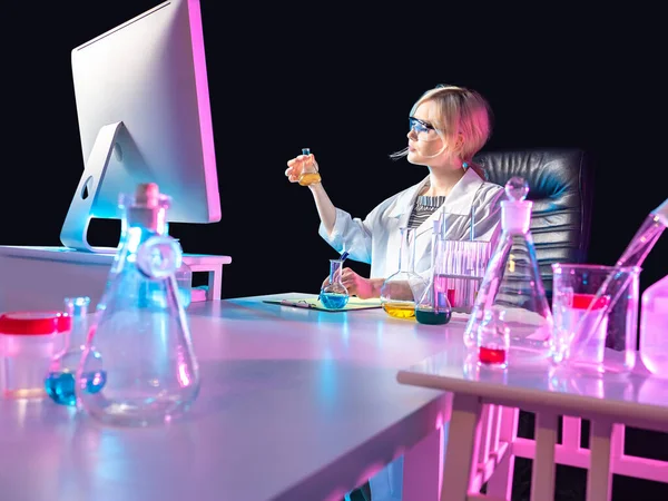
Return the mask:
<path fill-rule="evenodd" d="M 303 295 L 272 298 L 288 296 Z M 50 401 L 0 401 L 0 499 L 340 501 L 403 453 L 404 499 L 435 499 L 450 399 L 396 371 L 461 325 L 262 299 L 188 310 L 203 386 L 183 421 L 110 428 Z"/>

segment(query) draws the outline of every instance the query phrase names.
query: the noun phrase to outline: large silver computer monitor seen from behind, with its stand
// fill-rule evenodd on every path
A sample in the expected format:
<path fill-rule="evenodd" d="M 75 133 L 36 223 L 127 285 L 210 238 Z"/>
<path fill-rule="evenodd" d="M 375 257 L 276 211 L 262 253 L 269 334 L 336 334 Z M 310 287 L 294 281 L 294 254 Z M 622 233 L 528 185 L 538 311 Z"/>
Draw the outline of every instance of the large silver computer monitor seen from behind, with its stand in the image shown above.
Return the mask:
<path fill-rule="evenodd" d="M 88 243 L 91 218 L 119 219 L 118 197 L 157 183 L 168 220 L 220 220 L 199 0 L 169 0 L 72 50 L 84 174 L 60 233 Z"/>

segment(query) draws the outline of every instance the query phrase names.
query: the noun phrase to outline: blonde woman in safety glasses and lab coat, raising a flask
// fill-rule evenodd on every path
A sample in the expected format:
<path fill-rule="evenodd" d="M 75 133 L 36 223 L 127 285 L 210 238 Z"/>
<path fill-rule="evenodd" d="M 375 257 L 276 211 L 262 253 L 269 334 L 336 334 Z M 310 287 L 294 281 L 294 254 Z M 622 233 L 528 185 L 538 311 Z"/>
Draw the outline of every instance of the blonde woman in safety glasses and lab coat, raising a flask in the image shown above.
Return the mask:
<path fill-rule="evenodd" d="M 445 215 L 448 239 L 473 236 L 493 246 L 501 230 L 503 188 L 487 183 L 482 168 L 473 163 L 491 134 L 488 101 L 471 89 L 438 86 L 418 99 L 409 120 L 407 147 L 392 157 L 425 166 L 429 175 L 382 202 L 363 220 L 332 204 L 320 176 L 307 185 L 321 218 L 320 235 L 338 253 L 347 250 L 350 259 L 371 264 L 369 278 L 351 268 L 342 271 L 343 285 L 361 298 L 380 297 L 383 282 L 397 271 L 401 227 L 416 228 L 415 272 L 425 277 L 431 266 L 433 220 L 441 214 Z M 318 170 L 313 155 L 299 155 L 287 163 L 285 175 L 297 183 L 308 166 Z M 351 499 L 369 500 L 371 492 L 374 501 L 401 499 L 402 466 L 400 458 L 371 480 L 371 489 L 367 483 L 353 491 Z"/>

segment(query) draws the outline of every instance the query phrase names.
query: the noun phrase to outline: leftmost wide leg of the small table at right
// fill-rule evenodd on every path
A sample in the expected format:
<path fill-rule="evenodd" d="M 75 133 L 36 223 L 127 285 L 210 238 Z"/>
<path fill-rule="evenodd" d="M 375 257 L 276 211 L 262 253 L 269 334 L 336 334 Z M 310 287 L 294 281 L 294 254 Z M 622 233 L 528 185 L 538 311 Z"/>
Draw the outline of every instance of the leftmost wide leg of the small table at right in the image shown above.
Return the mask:
<path fill-rule="evenodd" d="M 482 402 L 479 396 L 454 394 L 448 433 L 441 501 L 466 499 L 478 466 Z"/>

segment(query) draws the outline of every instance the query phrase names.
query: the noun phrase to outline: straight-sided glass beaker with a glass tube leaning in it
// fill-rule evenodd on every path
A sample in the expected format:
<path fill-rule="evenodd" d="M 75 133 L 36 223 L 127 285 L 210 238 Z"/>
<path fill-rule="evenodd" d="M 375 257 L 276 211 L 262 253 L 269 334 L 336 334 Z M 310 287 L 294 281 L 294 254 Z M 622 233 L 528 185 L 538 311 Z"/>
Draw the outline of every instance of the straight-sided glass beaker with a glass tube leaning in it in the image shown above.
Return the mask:
<path fill-rule="evenodd" d="M 580 372 L 631 370 L 636 362 L 640 268 L 556 263 L 552 273 L 552 361 Z M 606 282 L 610 295 L 597 296 Z M 610 307 L 612 296 L 619 299 Z"/>

